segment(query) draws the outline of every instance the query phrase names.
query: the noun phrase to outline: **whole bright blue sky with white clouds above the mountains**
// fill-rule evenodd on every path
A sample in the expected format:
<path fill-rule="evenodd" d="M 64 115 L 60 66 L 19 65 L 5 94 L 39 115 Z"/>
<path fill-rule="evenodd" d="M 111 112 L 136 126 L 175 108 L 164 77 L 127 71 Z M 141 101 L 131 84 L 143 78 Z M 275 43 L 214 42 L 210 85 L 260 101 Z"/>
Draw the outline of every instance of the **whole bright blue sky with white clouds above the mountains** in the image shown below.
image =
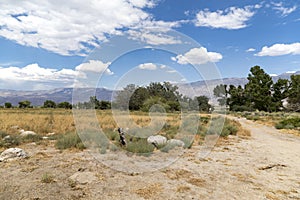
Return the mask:
<path fill-rule="evenodd" d="M 59 2 L 59 3 L 58 3 Z M 300 2 L 0 0 L 0 89 L 300 70 Z"/>

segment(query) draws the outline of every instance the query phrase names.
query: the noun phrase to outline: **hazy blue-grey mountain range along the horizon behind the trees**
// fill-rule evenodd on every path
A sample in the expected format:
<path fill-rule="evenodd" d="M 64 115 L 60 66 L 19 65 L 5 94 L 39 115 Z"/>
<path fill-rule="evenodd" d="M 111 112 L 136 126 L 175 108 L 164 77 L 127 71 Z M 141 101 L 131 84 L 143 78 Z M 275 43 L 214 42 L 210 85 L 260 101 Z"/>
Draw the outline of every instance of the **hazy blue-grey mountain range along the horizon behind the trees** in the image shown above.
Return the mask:
<path fill-rule="evenodd" d="M 278 76 L 272 75 L 273 81 L 278 79 L 289 79 L 292 74 L 300 74 L 300 71 L 284 73 Z M 248 82 L 247 78 L 224 78 L 217 80 L 197 81 L 189 84 L 178 84 L 179 92 L 188 96 L 200 96 L 205 95 L 213 98 L 213 89 L 219 84 L 227 85 L 242 85 L 244 86 Z M 58 88 L 53 90 L 38 90 L 38 91 L 17 91 L 17 90 L 1 90 L 0 89 L 0 105 L 4 105 L 5 102 L 10 102 L 14 106 L 18 105 L 18 102 L 28 100 L 33 106 L 41 106 L 44 101 L 52 100 L 54 102 L 84 102 L 89 99 L 91 94 L 94 94 L 98 100 L 111 101 L 113 90 L 105 88 L 97 88 L 94 93 L 94 88 L 80 88 L 76 89 L 76 98 L 73 99 L 73 88 Z"/>

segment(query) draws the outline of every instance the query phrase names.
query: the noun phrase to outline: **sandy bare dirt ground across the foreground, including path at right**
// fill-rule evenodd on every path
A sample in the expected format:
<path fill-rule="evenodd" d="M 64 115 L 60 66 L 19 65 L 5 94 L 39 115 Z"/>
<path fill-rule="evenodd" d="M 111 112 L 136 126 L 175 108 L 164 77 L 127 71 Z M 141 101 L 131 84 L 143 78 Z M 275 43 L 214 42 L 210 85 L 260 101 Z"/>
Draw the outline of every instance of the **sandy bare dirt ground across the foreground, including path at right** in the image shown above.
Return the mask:
<path fill-rule="evenodd" d="M 251 138 L 230 137 L 205 159 L 193 146 L 141 174 L 112 170 L 87 150 L 23 145 L 28 159 L 0 163 L 0 199 L 300 199 L 300 138 L 235 119 Z"/>

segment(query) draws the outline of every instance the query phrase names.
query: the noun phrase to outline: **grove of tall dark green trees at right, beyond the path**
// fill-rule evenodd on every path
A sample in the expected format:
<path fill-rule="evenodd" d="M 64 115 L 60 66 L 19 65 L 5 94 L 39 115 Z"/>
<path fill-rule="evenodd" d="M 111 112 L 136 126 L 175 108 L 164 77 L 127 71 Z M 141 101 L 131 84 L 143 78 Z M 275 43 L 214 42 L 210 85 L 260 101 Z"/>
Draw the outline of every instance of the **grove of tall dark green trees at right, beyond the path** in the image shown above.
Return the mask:
<path fill-rule="evenodd" d="M 283 100 L 286 99 L 289 110 L 300 111 L 300 75 L 274 83 L 260 66 L 254 66 L 247 79 L 244 87 L 221 84 L 214 88 L 219 104 L 227 105 L 232 111 L 274 112 L 284 109 Z"/>

